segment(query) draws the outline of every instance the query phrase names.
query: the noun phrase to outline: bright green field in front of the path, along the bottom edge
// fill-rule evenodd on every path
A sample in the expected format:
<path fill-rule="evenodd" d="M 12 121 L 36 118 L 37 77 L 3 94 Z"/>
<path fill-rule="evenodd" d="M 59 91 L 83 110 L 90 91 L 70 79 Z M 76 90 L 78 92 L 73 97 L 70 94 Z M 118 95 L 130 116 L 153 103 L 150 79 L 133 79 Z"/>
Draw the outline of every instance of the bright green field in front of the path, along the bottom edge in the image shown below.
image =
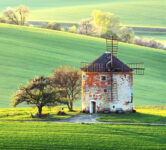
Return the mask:
<path fill-rule="evenodd" d="M 0 149 L 166 149 L 166 127 L 0 122 Z"/>

